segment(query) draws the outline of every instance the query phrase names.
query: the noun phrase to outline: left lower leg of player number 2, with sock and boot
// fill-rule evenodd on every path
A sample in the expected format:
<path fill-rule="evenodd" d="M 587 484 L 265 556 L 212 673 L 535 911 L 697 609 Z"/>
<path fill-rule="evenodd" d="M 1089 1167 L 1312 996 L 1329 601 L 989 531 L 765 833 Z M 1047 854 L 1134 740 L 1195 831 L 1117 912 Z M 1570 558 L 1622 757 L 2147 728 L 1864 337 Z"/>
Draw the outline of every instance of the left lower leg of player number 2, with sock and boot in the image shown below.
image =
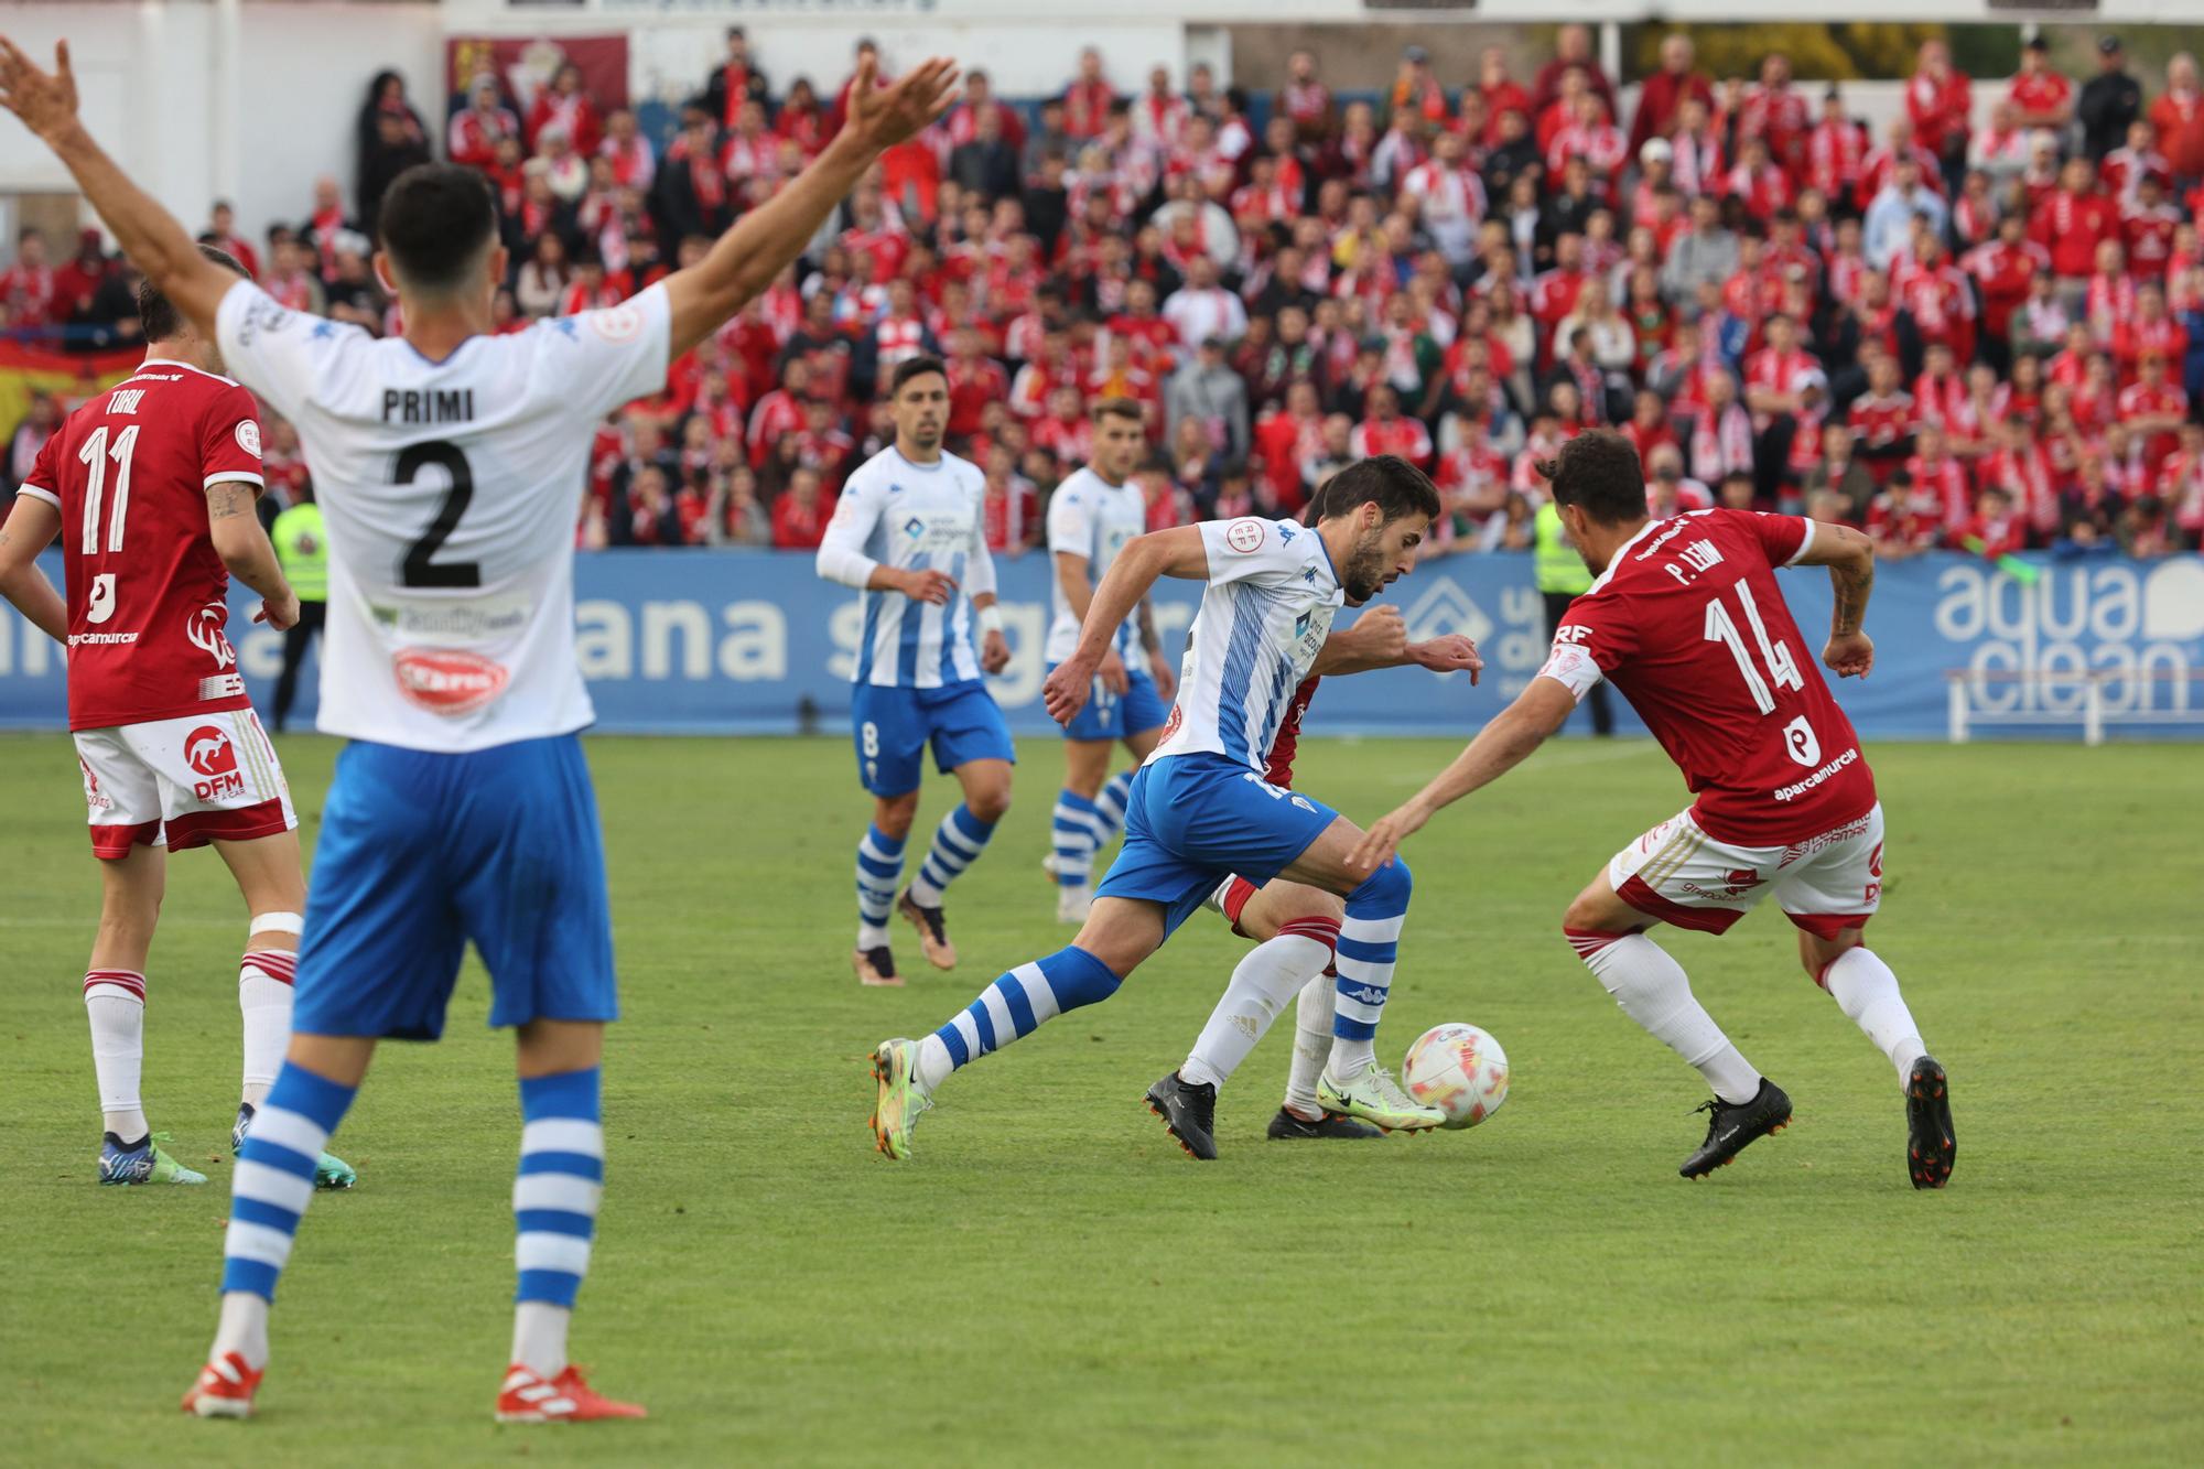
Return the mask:
<path fill-rule="evenodd" d="M 238 1149 L 223 1240 L 223 1317 L 183 1409 L 245 1418 L 269 1361 L 269 1306 L 313 1200 L 315 1158 L 337 1132 L 375 1057 L 375 1037 L 293 1034 L 276 1085 Z"/>

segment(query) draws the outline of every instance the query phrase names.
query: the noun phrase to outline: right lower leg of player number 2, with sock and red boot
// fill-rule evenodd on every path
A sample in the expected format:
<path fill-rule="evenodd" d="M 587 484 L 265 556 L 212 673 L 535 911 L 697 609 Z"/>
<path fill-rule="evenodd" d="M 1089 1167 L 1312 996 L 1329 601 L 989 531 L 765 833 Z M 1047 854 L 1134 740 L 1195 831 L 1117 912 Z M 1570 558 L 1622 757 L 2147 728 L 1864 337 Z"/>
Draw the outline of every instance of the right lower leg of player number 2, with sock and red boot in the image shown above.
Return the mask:
<path fill-rule="evenodd" d="M 514 1357 L 498 1423 L 641 1418 L 595 1394 L 566 1361 L 604 1198 L 602 1021 L 533 1019 L 518 1030 L 520 1176 L 514 1180 Z"/>

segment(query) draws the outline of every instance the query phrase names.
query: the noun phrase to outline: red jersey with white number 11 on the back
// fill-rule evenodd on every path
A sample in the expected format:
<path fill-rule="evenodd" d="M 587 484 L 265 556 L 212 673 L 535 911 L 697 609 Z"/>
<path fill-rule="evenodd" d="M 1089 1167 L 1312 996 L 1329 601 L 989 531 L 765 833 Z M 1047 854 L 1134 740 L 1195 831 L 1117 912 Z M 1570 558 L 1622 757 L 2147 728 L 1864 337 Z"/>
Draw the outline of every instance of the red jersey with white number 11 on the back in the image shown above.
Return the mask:
<path fill-rule="evenodd" d="M 37 452 L 20 494 L 62 512 L 68 728 L 251 708 L 207 532 L 220 481 L 260 490 L 253 395 L 181 362 L 148 357 Z"/>

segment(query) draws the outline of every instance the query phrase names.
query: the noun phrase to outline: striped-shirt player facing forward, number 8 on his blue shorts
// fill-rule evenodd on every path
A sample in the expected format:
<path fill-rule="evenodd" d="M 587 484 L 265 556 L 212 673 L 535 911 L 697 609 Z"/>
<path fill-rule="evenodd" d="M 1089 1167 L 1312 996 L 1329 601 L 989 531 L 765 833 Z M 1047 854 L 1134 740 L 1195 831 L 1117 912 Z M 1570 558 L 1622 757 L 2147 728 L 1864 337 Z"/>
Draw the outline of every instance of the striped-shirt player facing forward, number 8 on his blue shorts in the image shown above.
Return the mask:
<path fill-rule="evenodd" d="M 888 410 L 895 443 L 857 465 L 842 487 L 818 571 L 864 591 L 864 635 L 851 690 L 857 779 L 873 792 L 873 825 L 857 843 L 860 984 L 901 984 L 888 913 L 917 931 L 934 968 L 954 968 L 941 891 L 963 873 L 1009 809 L 1016 752 L 983 673 L 1009 664 L 994 604 L 979 465 L 943 452 L 950 379 L 934 357 L 895 368 Z M 972 629 L 981 640 L 974 648 Z M 904 843 L 919 814 L 926 746 L 954 772 L 963 803 L 934 827 L 919 876 L 897 896 Z"/>

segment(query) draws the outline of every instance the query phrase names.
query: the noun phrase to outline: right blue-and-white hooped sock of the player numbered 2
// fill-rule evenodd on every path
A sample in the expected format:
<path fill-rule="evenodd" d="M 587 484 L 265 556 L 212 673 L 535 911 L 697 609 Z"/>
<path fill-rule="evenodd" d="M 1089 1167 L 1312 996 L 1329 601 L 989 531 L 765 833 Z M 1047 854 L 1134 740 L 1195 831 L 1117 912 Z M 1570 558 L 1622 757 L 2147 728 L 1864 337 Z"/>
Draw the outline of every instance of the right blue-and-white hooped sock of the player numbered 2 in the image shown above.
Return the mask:
<path fill-rule="evenodd" d="M 588 1275 L 604 1198 L 604 1125 L 595 1065 L 520 1081 L 520 1173 L 514 1178 L 514 1361 L 566 1370 L 566 1323 Z"/>

